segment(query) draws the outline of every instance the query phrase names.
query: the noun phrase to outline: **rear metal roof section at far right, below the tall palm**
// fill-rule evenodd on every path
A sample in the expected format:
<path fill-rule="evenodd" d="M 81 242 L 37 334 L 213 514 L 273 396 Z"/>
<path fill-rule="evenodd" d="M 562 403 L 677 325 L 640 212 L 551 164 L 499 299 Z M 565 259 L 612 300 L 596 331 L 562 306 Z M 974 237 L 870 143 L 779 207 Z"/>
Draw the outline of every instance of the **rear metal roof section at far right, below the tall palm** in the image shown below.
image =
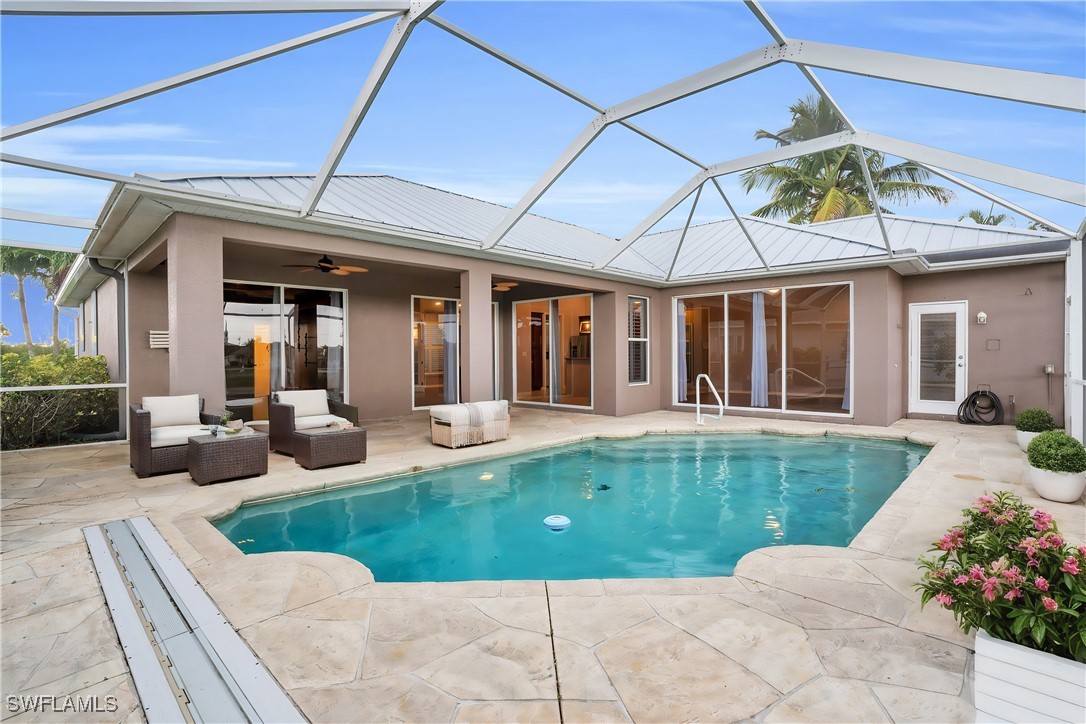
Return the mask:
<path fill-rule="evenodd" d="M 918 254 L 1065 238 L 1064 234 L 1051 231 L 1018 229 L 1012 226 L 981 226 L 973 221 L 944 221 L 897 214 L 883 214 L 883 223 L 895 252 L 913 249 Z M 879 219 L 873 214 L 820 221 L 811 224 L 809 228 L 848 237 L 882 238 Z"/>

